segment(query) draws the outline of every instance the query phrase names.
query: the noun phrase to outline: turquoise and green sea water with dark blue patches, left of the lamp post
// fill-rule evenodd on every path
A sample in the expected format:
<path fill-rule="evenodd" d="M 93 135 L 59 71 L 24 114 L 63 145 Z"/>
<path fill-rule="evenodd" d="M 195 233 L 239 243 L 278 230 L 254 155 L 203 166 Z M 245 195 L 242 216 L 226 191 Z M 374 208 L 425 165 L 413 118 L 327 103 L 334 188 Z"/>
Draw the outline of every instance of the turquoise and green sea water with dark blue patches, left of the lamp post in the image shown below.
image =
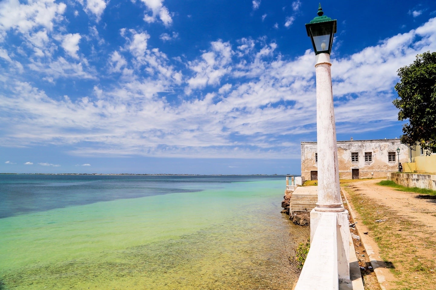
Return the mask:
<path fill-rule="evenodd" d="M 283 176 L 0 175 L 0 289 L 286 289 Z"/>

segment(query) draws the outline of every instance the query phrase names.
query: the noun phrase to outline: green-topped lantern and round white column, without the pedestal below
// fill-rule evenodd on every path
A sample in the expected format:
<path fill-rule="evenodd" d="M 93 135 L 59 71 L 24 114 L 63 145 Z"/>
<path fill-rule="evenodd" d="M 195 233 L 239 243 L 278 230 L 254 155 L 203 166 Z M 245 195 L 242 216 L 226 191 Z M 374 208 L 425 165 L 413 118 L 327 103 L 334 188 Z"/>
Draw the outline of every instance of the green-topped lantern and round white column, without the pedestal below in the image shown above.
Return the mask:
<path fill-rule="evenodd" d="M 339 187 L 336 128 L 331 87 L 330 51 L 336 20 L 323 15 L 321 4 L 318 17 L 306 24 L 307 36 L 312 40 L 316 57 L 317 77 L 317 150 L 318 150 L 318 202 L 316 211 L 344 211 Z"/>

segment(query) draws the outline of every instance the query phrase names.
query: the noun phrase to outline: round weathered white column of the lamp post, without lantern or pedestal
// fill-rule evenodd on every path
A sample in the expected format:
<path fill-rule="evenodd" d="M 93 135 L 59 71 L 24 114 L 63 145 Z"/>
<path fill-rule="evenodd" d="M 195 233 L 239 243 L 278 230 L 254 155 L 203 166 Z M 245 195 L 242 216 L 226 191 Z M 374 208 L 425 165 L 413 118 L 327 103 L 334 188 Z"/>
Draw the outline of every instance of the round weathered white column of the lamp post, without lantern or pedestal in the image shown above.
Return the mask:
<path fill-rule="evenodd" d="M 316 211 L 344 211 L 339 187 L 330 54 L 316 55 L 318 202 Z"/>

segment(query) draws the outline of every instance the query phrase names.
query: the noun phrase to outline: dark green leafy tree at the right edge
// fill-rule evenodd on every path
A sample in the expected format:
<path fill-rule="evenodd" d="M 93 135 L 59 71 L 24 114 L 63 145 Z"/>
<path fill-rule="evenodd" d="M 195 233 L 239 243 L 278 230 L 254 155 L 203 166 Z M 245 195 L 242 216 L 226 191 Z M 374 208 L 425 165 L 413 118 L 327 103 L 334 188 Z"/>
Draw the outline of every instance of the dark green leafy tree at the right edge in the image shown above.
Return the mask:
<path fill-rule="evenodd" d="M 420 145 L 430 155 L 436 150 L 436 52 L 418 54 L 412 64 L 399 68 L 398 76 L 399 99 L 392 103 L 399 109 L 398 120 L 409 120 L 402 142 Z"/>

